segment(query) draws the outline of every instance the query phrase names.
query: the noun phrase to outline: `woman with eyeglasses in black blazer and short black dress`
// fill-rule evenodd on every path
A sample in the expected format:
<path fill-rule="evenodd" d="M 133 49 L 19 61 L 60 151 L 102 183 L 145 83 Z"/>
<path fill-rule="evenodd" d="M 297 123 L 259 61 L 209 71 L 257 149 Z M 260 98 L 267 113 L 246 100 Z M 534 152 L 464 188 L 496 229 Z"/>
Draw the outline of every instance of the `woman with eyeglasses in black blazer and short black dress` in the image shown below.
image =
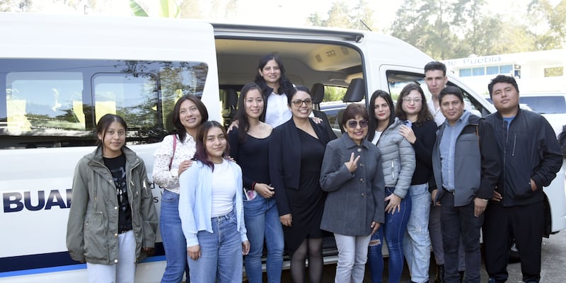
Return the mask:
<path fill-rule="evenodd" d="M 320 230 L 325 194 L 320 190 L 320 167 L 328 132 L 308 115 L 313 110 L 311 92 L 305 86 L 291 88 L 287 105 L 292 117 L 273 129 L 270 142 L 270 178 L 287 250 L 293 282 L 321 282 L 323 231 Z"/>

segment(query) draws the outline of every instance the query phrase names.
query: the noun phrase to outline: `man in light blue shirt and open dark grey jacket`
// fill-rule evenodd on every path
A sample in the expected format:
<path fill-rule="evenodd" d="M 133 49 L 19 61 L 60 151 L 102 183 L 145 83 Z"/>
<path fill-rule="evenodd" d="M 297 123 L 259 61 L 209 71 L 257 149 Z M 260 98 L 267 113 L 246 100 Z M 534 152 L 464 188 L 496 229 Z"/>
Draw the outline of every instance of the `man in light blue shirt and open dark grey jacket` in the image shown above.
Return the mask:
<path fill-rule="evenodd" d="M 460 88 L 447 86 L 439 94 L 446 121 L 437 131 L 432 167 L 438 189 L 432 191 L 441 204 L 440 221 L 444 248 L 444 281 L 461 282 L 458 274 L 460 238 L 465 250 L 463 282 L 480 282 L 480 228 L 487 201 L 501 173 L 499 152 L 491 125 L 464 110 Z"/>

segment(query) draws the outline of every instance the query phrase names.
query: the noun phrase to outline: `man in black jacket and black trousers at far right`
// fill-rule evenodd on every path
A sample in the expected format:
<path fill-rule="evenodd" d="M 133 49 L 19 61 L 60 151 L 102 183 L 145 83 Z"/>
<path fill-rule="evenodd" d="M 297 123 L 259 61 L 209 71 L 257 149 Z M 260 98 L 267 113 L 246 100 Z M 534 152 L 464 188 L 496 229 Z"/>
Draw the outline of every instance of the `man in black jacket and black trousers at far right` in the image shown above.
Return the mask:
<path fill-rule="evenodd" d="M 562 166 L 560 146 L 543 116 L 519 108 L 519 87 L 513 77 L 496 76 L 487 88 L 497 112 L 486 120 L 495 130 L 503 169 L 485 209 L 485 269 L 490 282 L 507 281 L 508 250 L 514 239 L 523 281 L 538 282 L 543 187 L 550 185 Z"/>

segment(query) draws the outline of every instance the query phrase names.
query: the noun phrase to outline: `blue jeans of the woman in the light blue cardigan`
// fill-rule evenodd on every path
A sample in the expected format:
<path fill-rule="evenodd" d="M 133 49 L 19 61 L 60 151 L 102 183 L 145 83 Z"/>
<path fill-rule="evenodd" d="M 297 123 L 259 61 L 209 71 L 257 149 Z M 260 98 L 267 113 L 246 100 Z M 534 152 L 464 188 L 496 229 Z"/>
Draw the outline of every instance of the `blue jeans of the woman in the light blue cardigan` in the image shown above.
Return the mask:
<path fill-rule="evenodd" d="M 242 239 L 236 224 L 236 212 L 232 210 L 225 216 L 213 217 L 210 220 L 212 233 L 197 233 L 200 258 L 192 260 L 187 256 L 191 270 L 190 281 L 242 282 Z"/>

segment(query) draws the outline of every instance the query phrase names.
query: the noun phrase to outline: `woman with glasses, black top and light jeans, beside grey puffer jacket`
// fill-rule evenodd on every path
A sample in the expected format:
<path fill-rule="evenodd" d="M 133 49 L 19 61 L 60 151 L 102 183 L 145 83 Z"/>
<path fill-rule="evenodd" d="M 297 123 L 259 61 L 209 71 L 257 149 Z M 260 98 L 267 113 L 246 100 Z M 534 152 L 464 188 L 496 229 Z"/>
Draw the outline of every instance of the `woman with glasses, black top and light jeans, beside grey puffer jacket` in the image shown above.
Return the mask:
<path fill-rule="evenodd" d="M 401 90 L 395 108 L 397 117 L 410 121 L 400 127 L 400 134 L 415 149 L 416 168 L 409 187 L 411 213 L 407 232 L 403 239 L 403 251 L 411 273 L 411 281 L 429 281 L 430 235 L 429 180 L 432 178 L 432 147 L 437 140 L 437 124 L 427 107 L 427 98 L 416 83 L 409 83 Z"/>

